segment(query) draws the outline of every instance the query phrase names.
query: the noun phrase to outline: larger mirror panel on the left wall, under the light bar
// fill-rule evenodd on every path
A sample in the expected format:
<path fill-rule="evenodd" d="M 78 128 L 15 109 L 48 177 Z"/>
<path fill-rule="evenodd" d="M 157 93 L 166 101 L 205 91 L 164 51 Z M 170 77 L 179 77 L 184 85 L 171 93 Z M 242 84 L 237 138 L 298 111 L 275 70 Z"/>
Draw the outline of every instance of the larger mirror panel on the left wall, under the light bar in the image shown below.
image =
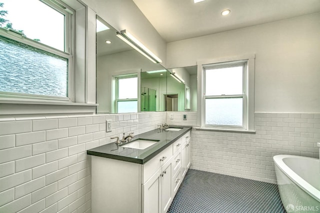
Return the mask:
<path fill-rule="evenodd" d="M 141 72 L 158 70 L 164 68 L 131 48 L 116 36 L 115 29 L 99 17 L 96 18 L 97 114 L 163 111 L 159 94 L 166 93 L 165 78 L 158 79 L 157 85 L 154 78 L 150 86 L 149 80 L 141 75 Z M 156 99 L 150 101 L 147 96 Z M 144 107 L 148 102 L 152 106 Z"/>

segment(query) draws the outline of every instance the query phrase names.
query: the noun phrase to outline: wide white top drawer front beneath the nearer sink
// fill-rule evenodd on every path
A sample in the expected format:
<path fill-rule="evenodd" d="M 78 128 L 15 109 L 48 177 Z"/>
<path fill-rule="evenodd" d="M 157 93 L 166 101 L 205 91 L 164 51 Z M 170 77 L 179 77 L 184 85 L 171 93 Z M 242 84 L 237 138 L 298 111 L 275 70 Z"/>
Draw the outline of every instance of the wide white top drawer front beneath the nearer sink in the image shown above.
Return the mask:
<path fill-rule="evenodd" d="M 145 183 L 170 157 L 172 157 L 172 144 L 143 164 L 142 183 Z"/>

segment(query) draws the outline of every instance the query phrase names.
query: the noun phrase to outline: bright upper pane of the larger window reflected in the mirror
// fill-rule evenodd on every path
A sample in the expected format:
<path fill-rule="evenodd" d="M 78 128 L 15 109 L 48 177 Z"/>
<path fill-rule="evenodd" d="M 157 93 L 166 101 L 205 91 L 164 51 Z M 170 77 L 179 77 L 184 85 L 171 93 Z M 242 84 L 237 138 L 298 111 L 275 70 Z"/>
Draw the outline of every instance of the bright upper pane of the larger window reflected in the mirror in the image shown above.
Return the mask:
<path fill-rule="evenodd" d="M 138 78 L 123 78 L 118 79 L 118 99 L 132 99 L 138 97 Z"/>

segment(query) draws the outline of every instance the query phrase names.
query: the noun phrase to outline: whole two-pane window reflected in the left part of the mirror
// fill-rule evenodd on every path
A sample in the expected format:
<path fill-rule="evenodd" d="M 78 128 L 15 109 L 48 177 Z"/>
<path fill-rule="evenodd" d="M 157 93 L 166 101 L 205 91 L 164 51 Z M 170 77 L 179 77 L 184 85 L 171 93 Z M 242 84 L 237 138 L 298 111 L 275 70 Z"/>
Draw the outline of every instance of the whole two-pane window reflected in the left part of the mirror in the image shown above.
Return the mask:
<path fill-rule="evenodd" d="M 115 77 L 116 113 L 137 112 L 137 88 L 138 78 L 136 74 Z"/>

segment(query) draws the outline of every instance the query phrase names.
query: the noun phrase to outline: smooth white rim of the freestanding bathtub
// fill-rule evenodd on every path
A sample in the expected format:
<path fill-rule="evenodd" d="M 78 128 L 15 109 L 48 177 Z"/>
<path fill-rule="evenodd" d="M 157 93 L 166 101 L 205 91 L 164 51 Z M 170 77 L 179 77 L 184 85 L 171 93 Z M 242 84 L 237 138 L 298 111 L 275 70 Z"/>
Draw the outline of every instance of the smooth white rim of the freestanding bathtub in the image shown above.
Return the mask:
<path fill-rule="evenodd" d="M 306 158 L 310 160 L 315 160 L 319 162 L 319 159 L 313 158 L 313 157 L 304 157 L 304 156 L 297 156 L 297 155 L 289 155 L 289 154 L 279 154 L 273 156 L 273 162 L 275 166 L 277 166 L 290 180 L 292 180 L 296 185 L 298 185 L 300 188 L 302 188 L 306 193 L 308 193 L 310 196 L 312 196 L 314 199 L 316 199 L 318 202 L 320 202 L 320 191 L 313 187 L 310 183 L 305 181 L 302 177 L 300 177 L 298 174 L 296 174 L 289 166 L 287 166 L 283 159 L 293 157 L 293 158 Z M 292 175 L 288 175 L 288 172 L 290 172 Z"/>

